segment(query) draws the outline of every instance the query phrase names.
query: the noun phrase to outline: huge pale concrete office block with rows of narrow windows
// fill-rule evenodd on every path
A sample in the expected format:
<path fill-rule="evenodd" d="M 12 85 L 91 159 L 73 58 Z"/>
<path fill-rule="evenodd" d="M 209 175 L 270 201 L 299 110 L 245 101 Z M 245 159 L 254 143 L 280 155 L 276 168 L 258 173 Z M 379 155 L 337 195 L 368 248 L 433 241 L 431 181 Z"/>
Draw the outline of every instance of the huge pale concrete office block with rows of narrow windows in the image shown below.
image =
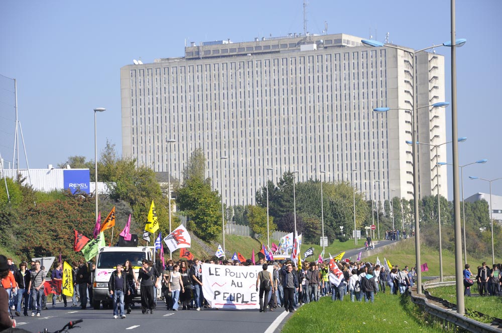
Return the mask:
<path fill-rule="evenodd" d="M 121 68 L 122 153 L 181 178 L 200 147 L 227 205 L 254 204 L 266 179 L 286 171 L 298 171 L 300 182 L 336 182 L 351 181 L 357 169 L 355 185 L 368 199 L 411 199 L 411 112 L 372 109 L 411 109 L 414 94 L 418 107 L 444 100 L 443 56 L 421 52 L 415 63 L 408 52 L 344 34 L 192 43 L 184 57 Z M 449 141 L 444 113 L 419 109 L 420 142 Z M 446 147 L 418 149 L 420 195 L 435 195 Z M 440 168 L 446 197 L 445 173 Z"/>

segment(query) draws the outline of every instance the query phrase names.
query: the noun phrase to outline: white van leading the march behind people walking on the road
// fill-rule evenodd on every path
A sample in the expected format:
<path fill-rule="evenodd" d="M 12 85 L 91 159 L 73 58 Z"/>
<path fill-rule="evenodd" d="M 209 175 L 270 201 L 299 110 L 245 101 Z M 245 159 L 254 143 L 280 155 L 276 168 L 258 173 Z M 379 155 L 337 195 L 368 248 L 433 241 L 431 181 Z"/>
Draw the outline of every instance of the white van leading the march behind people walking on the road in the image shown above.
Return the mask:
<path fill-rule="evenodd" d="M 108 292 L 110 274 L 116 269 L 117 264 L 124 264 L 126 260 L 131 262 L 134 273 L 138 272 L 143 259 L 155 260 L 154 246 L 120 247 L 105 246 L 99 249 L 96 256 L 96 269 L 94 270 L 92 284 L 92 307 L 99 309 L 101 302 L 103 307 L 111 307 L 112 299 Z M 140 290 L 138 289 L 138 295 Z"/>

